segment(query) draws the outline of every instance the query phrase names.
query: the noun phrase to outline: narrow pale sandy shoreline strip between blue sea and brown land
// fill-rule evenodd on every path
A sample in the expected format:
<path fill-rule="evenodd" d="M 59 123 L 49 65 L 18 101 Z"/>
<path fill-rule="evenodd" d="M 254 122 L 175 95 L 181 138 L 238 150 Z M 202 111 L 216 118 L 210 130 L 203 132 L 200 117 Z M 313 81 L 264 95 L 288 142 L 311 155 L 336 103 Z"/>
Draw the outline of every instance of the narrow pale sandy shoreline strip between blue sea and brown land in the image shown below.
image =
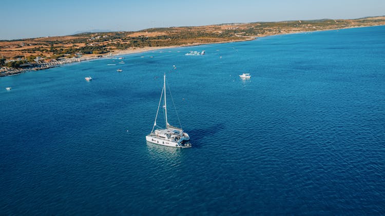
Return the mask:
<path fill-rule="evenodd" d="M 192 46 L 199 46 L 199 45 L 205 45 L 205 44 L 224 44 L 224 43 L 233 43 L 233 42 L 244 42 L 244 41 L 253 41 L 257 40 L 260 37 L 267 37 L 267 36 L 274 36 L 274 35 L 284 35 L 284 34 L 295 34 L 295 33 L 305 33 L 305 32 L 318 32 L 318 31 L 331 31 L 331 30 L 340 30 L 340 29 L 352 29 L 352 28 L 367 28 L 367 27 L 376 27 L 376 26 L 385 26 L 385 25 L 374 25 L 374 26 L 350 26 L 350 27 L 344 27 L 344 28 L 332 28 L 332 29 L 322 29 L 322 30 L 314 30 L 314 31 L 290 31 L 290 32 L 280 32 L 280 33 L 267 33 L 262 34 L 259 36 L 247 36 L 243 37 L 241 40 L 234 40 L 234 41 L 223 41 L 223 42 L 208 42 L 208 43 L 192 43 L 192 44 L 184 44 L 184 45 L 173 45 L 173 46 L 159 46 L 159 47 L 143 47 L 143 48 L 130 48 L 126 50 L 114 50 L 112 52 L 106 53 L 106 55 L 84 55 L 82 57 L 72 57 L 67 58 L 64 61 L 54 61 L 49 63 L 43 63 L 38 66 L 32 67 L 32 68 L 25 68 L 25 69 L 15 69 L 15 68 L 9 68 L 6 70 L 0 70 L 0 77 L 2 76 L 12 76 L 17 75 L 29 71 L 37 71 L 37 70 L 45 70 L 53 67 L 60 67 L 61 65 L 67 65 L 75 62 L 84 62 L 84 61 L 90 61 L 90 60 L 96 60 L 100 58 L 107 58 L 108 55 L 112 56 L 119 56 L 119 55 L 126 55 L 126 54 L 134 54 L 134 53 L 142 53 L 142 52 L 148 52 L 153 50 L 160 50 L 160 49 L 170 49 L 170 48 L 178 48 L 178 47 L 192 47 Z"/>

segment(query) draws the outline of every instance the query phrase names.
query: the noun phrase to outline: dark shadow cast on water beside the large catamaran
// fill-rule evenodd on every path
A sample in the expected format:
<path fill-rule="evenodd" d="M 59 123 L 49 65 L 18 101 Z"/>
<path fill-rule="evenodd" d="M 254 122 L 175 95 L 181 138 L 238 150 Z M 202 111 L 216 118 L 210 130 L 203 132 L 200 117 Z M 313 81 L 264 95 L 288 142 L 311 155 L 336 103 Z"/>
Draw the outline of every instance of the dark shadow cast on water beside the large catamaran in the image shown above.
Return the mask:
<path fill-rule="evenodd" d="M 187 132 L 191 138 L 190 143 L 192 148 L 203 147 L 205 145 L 205 143 L 203 142 L 203 140 L 205 140 L 205 137 L 213 136 L 214 134 L 218 133 L 224 128 L 225 126 L 223 123 L 218 123 L 218 124 L 211 125 L 207 128 L 188 130 Z"/>

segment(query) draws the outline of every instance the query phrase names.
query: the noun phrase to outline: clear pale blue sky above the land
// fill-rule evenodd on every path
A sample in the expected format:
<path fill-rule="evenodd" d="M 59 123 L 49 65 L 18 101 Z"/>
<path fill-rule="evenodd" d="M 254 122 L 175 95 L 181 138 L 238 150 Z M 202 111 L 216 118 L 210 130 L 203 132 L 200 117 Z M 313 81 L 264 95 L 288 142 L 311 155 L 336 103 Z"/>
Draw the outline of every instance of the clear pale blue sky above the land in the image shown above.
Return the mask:
<path fill-rule="evenodd" d="M 381 15 L 385 15 L 385 0 L 2 0 L 0 40 L 69 35 L 92 29 L 136 31 Z"/>

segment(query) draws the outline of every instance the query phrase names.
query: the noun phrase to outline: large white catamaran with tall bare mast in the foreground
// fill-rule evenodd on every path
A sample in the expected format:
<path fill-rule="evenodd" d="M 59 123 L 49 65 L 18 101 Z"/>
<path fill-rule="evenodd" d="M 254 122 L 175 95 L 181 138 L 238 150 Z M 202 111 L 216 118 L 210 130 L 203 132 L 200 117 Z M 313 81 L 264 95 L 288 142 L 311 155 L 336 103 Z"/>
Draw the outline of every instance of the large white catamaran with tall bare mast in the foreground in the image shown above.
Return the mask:
<path fill-rule="evenodd" d="M 163 96 L 164 94 L 164 96 Z M 157 125 L 157 117 L 159 113 L 160 104 L 162 102 L 162 97 L 164 97 L 163 100 L 163 108 L 165 113 L 165 119 L 166 119 L 166 128 L 160 128 Z M 172 99 L 172 97 L 171 97 Z M 178 115 L 178 113 L 177 113 Z M 179 117 L 178 117 L 179 119 Z M 159 129 L 155 129 L 155 127 L 158 127 Z M 168 124 L 167 122 L 167 103 L 166 103 L 166 74 L 164 74 L 164 84 L 162 89 L 162 94 L 159 100 L 157 115 L 155 116 L 155 122 L 153 124 L 151 133 L 146 135 L 146 141 L 150 143 L 155 143 L 159 145 L 164 146 L 170 146 L 170 147 L 177 147 L 177 148 L 188 148 L 191 147 L 191 144 L 188 142 L 190 140 L 190 137 L 186 132 L 183 131 L 182 128 L 174 127 Z"/>

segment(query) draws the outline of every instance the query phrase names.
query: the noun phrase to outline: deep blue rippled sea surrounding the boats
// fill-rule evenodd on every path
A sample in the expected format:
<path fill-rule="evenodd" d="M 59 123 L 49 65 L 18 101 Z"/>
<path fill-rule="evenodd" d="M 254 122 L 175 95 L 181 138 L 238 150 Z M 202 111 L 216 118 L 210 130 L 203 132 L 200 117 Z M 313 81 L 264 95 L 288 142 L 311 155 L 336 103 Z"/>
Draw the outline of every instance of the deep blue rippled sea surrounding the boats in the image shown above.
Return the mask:
<path fill-rule="evenodd" d="M 123 57 L 0 78 L 0 214 L 385 214 L 385 26 Z"/>

